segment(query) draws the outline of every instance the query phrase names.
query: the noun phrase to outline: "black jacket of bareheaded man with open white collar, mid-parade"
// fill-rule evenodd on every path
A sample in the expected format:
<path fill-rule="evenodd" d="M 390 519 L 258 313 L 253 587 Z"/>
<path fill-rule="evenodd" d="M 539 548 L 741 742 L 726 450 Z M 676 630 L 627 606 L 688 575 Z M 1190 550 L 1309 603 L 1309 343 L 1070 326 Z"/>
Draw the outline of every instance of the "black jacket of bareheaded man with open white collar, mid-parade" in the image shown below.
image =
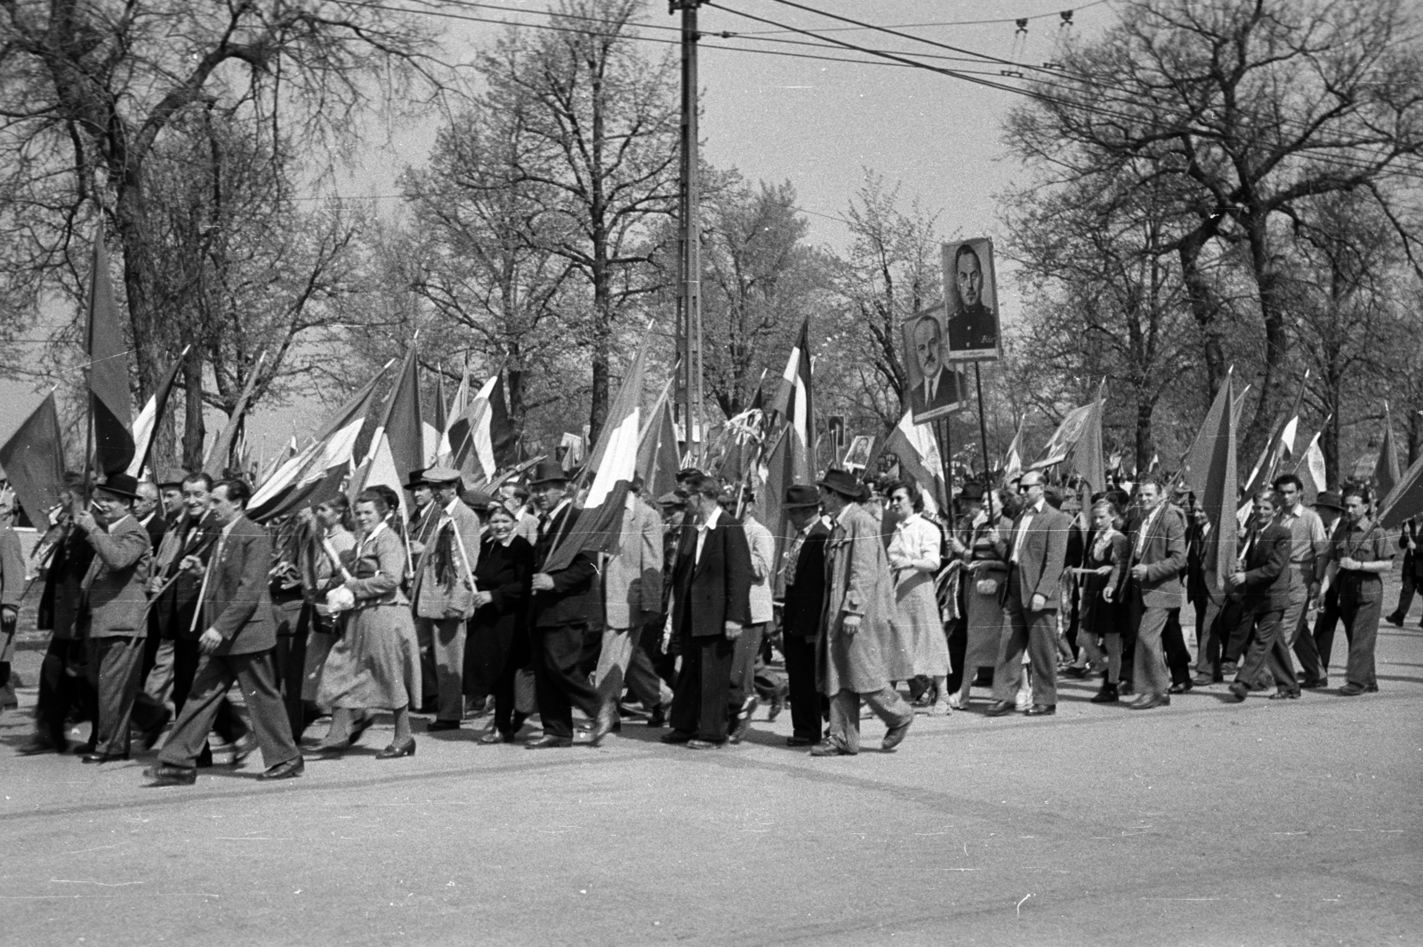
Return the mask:
<path fill-rule="evenodd" d="M 697 530 L 687 523 L 672 570 L 673 628 L 704 638 L 726 634 L 727 621 L 751 623 L 751 547 L 741 523 L 724 510 L 707 530 L 697 560 Z"/>

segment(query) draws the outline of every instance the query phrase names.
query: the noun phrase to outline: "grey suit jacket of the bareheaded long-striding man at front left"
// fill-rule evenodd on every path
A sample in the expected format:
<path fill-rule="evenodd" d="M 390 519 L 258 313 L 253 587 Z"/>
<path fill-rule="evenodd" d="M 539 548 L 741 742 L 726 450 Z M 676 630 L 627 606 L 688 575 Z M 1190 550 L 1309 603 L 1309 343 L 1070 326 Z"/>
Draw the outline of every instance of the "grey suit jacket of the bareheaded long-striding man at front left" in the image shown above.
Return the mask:
<path fill-rule="evenodd" d="M 203 628 L 222 636 L 216 654 L 256 654 L 276 647 L 272 617 L 272 540 L 246 516 L 218 537 L 202 596 Z"/>

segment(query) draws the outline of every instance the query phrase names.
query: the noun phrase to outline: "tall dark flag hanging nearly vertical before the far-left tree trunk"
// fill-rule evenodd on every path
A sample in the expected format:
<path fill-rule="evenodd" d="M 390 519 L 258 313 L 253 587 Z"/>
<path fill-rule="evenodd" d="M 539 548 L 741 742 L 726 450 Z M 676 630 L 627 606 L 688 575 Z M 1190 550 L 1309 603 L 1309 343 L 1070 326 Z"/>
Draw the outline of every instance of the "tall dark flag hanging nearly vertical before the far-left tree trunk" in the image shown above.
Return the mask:
<path fill-rule="evenodd" d="M 94 272 L 90 274 L 88 333 L 90 417 L 94 428 L 94 462 L 102 474 L 122 474 L 134 461 L 134 435 L 128 394 L 128 348 L 118 320 L 114 286 L 108 279 L 104 235 L 94 237 Z"/>

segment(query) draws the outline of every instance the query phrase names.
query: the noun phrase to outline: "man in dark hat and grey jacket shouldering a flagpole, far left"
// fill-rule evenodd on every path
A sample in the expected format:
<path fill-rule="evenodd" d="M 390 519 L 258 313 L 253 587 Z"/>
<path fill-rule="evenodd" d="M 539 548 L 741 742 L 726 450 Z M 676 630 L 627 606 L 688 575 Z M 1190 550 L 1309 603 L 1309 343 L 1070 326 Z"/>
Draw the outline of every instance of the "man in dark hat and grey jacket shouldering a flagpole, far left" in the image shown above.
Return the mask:
<path fill-rule="evenodd" d="M 74 499 L 74 526 L 94 547 L 84 576 L 88 626 L 88 675 L 98 690 L 98 718 L 87 764 L 128 759 L 128 727 L 138 692 L 148 626 L 144 619 L 148 567 L 154 557 L 148 530 L 134 519 L 138 481 L 112 474 L 94 489 L 94 516 Z M 81 611 L 84 614 L 84 611 Z M 81 626 L 85 619 L 80 619 Z"/>

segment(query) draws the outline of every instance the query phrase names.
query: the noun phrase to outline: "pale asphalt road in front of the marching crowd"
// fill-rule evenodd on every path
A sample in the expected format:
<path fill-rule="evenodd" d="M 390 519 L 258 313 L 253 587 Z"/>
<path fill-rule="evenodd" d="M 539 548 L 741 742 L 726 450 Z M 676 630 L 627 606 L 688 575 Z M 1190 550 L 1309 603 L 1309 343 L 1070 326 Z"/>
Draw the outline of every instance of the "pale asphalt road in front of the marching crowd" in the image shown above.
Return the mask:
<path fill-rule="evenodd" d="M 1343 683 L 1339 638 L 1331 675 Z M 921 717 L 813 759 L 788 714 L 528 752 L 418 735 L 263 785 L 21 758 L 0 718 L 0 944 L 1419 944 L 1423 631 L 1380 692 Z M 33 683 L 33 673 L 26 675 Z M 440 737 L 448 737 L 441 734 Z"/>

